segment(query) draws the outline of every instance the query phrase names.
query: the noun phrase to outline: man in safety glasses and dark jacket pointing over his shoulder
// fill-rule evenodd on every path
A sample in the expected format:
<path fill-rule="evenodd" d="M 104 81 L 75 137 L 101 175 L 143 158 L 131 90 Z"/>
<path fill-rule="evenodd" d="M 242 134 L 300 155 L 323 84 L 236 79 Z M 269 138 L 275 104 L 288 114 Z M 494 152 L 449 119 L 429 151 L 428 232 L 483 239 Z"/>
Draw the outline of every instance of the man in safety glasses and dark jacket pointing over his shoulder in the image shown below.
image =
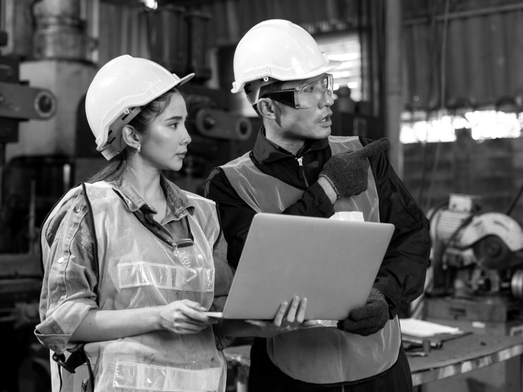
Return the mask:
<path fill-rule="evenodd" d="M 206 183 L 229 262 L 237 264 L 257 212 L 328 218 L 361 211 L 366 221 L 395 225 L 365 306 L 337 328 L 255 339 L 250 392 L 412 389 L 397 312 L 423 291 L 428 223 L 383 153 L 386 139 L 329 137 L 334 100 L 326 72 L 339 64 L 285 20 L 261 22 L 236 48 L 232 91 L 245 91 L 264 126 L 252 152 L 214 169 Z"/>

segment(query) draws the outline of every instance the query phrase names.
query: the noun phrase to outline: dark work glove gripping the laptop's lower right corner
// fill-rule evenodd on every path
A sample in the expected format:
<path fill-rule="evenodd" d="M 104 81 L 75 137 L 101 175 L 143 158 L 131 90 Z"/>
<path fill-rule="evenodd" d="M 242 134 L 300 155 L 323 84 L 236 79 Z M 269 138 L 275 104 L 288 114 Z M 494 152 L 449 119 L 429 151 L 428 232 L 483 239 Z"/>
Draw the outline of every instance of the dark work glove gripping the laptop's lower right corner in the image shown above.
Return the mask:
<path fill-rule="evenodd" d="M 338 329 L 369 336 L 382 329 L 389 321 L 389 304 L 378 289 L 370 291 L 365 306 L 354 309 L 346 320 L 338 321 Z"/>

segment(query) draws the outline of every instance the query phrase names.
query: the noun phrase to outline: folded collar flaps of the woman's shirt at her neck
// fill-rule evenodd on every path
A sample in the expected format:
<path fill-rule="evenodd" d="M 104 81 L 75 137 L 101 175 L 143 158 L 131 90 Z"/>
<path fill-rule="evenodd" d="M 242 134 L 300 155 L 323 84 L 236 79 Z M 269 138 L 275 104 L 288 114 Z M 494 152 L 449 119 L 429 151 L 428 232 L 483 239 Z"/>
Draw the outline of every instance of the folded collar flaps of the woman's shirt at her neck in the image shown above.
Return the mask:
<path fill-rule="evenodd" d="M 191 215 L 194 213 L 195 204 L 191 202 L 180 188 L 167 180 L 163 174 L 160 175 L 160 184 L 167 195 L 167 205 L 177 218 L 184 217 L 187 213 Z M 137 191 L 134 190 L 131 183 L 123 176 L 120 176 L 120 178 L 115 181 L 111 181 L 110 185 L 118 192 L 118 194 L 120 194 L 131 212 L 144 209 L 153 212 L 154 214 L 157 213 L 156 209 L 145 202 Z"/>

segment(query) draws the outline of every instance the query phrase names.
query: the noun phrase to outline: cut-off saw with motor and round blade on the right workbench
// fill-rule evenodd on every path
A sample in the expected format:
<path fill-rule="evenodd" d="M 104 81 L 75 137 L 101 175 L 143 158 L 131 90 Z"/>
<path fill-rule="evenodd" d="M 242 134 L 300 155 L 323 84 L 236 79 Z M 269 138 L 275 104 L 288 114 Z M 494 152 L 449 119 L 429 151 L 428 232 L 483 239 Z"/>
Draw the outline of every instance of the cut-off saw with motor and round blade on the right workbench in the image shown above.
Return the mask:
<path fill-rule="evenodd" d="M 428 215 L 433 284 L 425 318 L 500 335 L 523 330 L 521 226 L 502 213 L 481 213 L 481 198 L 472 195 L 451 194 L 448 206 Z"/>

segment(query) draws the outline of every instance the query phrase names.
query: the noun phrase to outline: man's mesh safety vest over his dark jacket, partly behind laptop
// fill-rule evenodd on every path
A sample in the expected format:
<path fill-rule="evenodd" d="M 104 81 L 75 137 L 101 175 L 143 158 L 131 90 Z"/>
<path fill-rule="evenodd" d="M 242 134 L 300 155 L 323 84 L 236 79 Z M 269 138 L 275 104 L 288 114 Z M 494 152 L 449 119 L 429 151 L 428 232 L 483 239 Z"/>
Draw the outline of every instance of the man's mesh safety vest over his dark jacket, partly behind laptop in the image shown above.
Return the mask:
<path fill-rule="evenodd" d="M 358 137 L 329 136 L 334 154 L 360 149 Z M 280 214 L 301 199 L 303 190 L 260 171 L 249 153 L 221 166 L 234 190 L 256 212 Z M 367 222 L 380 222 L 376 183 L 369 167 L 368 189 L 340 198 L 334 210 L 360 211 Z M 285 374 L 307 383 L 355 382 L 388 370 L 397 360 L 401 333 L 397 316 L 374 335 L 363 337 L 336 327 L 282 333 L 267 339 L 271 361 Z"/>

